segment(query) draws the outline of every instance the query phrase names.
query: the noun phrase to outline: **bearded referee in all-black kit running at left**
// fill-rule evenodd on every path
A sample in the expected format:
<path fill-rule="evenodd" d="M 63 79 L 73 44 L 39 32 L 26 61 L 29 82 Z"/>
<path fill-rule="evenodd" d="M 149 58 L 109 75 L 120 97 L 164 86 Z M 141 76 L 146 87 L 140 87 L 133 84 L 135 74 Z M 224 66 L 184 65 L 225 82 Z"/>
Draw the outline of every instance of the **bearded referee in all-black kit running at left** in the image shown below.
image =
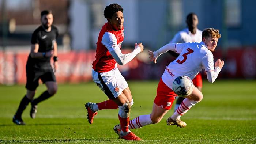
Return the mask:
<path fill-rule="evenodd" d="M 37 113 L 37 104 L 42 102 L 57 92 L 57 82 L 54 75 L 58 67 L 57 27 L 53 26 L 53 15 L 51 11 L 44 10 L 41 12 L 41 26 L 35 29 L 31 38 L 31 51 L 26 64 L 26 89 L 27 93 L 22 98 L 18 110 L 16 111 L 12 122 L 17 125 L 25 125 L 21 115 L 29 102 L 31 102 L 30 117 L 35 118 Z M 50 60 L 54 60 L 54 72 Z M 38 87 L 39 79 L 46 85 L 47 90 L 38 98 L 33 99 L 35 90 Z"/>

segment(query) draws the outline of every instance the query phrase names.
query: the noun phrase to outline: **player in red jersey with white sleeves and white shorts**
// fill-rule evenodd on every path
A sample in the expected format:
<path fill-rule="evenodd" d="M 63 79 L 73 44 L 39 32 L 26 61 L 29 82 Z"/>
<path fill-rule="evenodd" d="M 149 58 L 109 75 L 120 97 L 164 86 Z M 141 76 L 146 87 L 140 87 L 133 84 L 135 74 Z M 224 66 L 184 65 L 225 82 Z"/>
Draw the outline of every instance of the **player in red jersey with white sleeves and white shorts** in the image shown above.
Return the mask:
<path fill-rule="evenodd" d="M 88 121 L 101 109 L 119 108 L 120 137 L 125 140 L 141 140 L 129 128 L 129 115 L 133 104 L 131 91 L 127 82 L 117 68 L 131 61 L 138 53 L 143 52 L 142 43 L 135 44 L 133 52 L 123 54 L 121 45 L 124 39 L 123 8 L 118 4 L 110 4 L 104 10 L 108 22 L 102 27 L 96 49 L 96 60 L 93 62 L 93 81 L 108 96 L 109 100 L 101 103 L 86 103 Z"/>

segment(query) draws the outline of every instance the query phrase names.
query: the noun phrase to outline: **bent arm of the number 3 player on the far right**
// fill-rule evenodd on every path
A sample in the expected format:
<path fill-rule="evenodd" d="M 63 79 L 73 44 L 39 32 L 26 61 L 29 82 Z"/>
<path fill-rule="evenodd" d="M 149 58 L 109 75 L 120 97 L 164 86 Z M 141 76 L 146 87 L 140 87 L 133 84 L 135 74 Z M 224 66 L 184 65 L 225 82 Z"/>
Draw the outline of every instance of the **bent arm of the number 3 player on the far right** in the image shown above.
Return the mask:
<path fill-rule="evenodd" d="M 209 54 L 209 56 L 206 56 L 203 58 L 202 65 L 204 66 L 204 69 L 206 71 L 207 80 L 210 83 L 213 83 L 217 79 L 219 72 L 221 72 L 221 69 L 224 65 L 224 61 L 218 59 L 215 62 L 215 68 L 214 68 L 213 56 L 212 54 Z"/>

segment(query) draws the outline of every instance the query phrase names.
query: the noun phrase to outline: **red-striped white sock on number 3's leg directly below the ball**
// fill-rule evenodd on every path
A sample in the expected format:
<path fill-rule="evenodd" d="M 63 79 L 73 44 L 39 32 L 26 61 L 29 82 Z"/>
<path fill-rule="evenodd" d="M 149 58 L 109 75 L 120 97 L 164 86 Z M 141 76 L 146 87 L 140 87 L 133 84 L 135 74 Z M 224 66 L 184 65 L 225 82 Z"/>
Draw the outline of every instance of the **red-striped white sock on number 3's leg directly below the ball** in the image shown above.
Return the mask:
<path fill-rule="evenodd" d="M 196 103 L 198 103 L 197 101 L 193 101 L 193 100 L 189 100 L 188 98 L 185 98 L 182 103 L 180 104 L 180 106 L 178 107 L 178 109 L 174 112 L 174 114 L 172 115 L 172 119 L 177 121 L 180 119 L 181 115 L 187 113 L 187 111 L 194 106 Z"/>

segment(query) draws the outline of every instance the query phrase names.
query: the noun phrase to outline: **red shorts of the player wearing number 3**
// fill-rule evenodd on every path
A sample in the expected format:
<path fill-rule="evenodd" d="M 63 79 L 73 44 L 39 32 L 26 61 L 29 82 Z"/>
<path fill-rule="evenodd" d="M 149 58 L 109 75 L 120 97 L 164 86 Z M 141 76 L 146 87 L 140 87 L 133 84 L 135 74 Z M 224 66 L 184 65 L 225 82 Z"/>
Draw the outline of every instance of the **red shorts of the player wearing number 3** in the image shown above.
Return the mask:
<path fill-rule="evenodd" d="M 172 108 L 173 101 L 177 95 L 172 89 L 166 86 L 160 79 L 157 87 L 157 96 L 155 97 L 154 103 L 162 107 L 163 109 L 169 110 Z"/>

